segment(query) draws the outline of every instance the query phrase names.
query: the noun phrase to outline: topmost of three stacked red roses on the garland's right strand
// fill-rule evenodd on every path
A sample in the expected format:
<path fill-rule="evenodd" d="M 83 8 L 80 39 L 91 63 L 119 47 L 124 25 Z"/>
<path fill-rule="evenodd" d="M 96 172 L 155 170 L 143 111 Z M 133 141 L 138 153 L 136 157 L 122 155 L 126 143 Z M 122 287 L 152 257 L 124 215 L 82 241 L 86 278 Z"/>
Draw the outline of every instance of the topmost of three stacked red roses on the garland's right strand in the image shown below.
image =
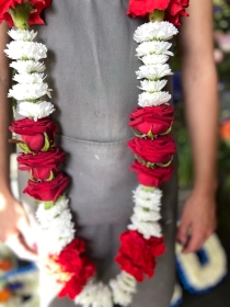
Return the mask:
<path fill-rule="evenodd" d="M 130 114 L 129 126 L 145 135 L 163 134 L 173 123 L 173 113 L 170 105 L 137 107 Z"/>

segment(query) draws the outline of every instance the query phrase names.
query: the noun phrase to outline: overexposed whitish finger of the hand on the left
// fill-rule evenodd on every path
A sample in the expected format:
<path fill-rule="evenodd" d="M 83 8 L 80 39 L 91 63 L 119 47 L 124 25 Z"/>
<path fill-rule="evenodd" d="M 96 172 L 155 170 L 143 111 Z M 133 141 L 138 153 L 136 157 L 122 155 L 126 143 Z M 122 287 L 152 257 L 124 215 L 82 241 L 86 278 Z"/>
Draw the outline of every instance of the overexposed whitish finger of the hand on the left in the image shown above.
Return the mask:
<path fill-rule="evenodd" d="M 37 255 L 32 252 L 24 243 L 23 240 L 21 240 L 20 234 L 13 234 L 11 235 L 7 241 L 5 245 L 11 248 L 15 254 L 24 260 L 28 261 L 37 261 Z"/>

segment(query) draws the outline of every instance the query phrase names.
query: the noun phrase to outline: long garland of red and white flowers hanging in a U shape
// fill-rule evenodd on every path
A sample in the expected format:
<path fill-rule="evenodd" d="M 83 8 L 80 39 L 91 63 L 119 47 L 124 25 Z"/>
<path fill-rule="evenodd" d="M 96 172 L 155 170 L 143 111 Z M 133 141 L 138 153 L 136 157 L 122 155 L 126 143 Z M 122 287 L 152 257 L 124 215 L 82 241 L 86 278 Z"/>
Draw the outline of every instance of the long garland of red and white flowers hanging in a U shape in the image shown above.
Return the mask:
<path fill-rule="evenodd" d="M 85 255 L 85 243 L 74 238 L 74 225 L 65 195 L 68 177 L 59 170 L 65 158 L 55 145 L 57 125 L 49 117 L 55 111 L 51 90 L 45 82 L 47 48 L 35 43 L 36 33 L 31 24 L 42 24 L 39 13 L 51 4 L 51 0 L 3 0 L 0 4 L 0 22 L 10 26 L 13 41 L 5 54 L 13 59 L 11 67 L 16 73 L 9 98 L 20 101 L 19 114 L 23 120 L 13 121 L 11 132 L 16 134 L 21 150 L 18 161 L 22 171 L 28 171 L 30 180 L 23 191 L 38 203 L 37 219 L 43 229 L 47 266 L 62 285 L 59 297 L 69 296 L 84 307 L 128 306 L 136 292 L 137 282 L 154 274 L 156 258 L 165 250 L 161 234 L 161 197 L 159 186 L 173 172 L 171 167 L 175 144 L 169 135 L 173 123 L 173 109 L 169 92 L 162 91 L 172 75 L 166 64 L 172 56 L 169 42 L 181 25 L 180 16 L 187 15 L 188 0 L 130 0 L 128 14 L 149 16 L 134 34 L 139 43 L 137 56 L 143 62 L 136 72 L 140 81 L 138 104 L 130 114 L 129 126 L 135 137 L 128 147 L 135 154 L 131 170 L 137 172 L 140 185 L 134 191 L 134 214 L 128 230 L 120 236 L 120 248 L 115 258 L 120 273 L 108 285 L 99 283 L 95 265 Z M 165 12 L 164 12 L 165 11 Z M 163 21 L 164 20 L 164 21 Z M 174 25 L 173 25 L 174 24 Z M 20 137 L 19 137 L 20 136 Z"/>

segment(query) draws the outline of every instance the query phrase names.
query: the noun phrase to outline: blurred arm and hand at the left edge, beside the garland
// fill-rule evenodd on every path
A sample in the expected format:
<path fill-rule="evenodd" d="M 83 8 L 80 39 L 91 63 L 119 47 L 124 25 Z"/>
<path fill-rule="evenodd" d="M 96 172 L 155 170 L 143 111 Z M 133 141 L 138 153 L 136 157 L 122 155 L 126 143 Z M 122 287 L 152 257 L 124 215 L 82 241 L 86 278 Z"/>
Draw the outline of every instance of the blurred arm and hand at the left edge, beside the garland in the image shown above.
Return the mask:
<path fill-rule="evenodd" d="M 34 260 L 35 257 L 19 229 L 20 226 L 28 228 L 26 216 L 10 189 L 9 126 L 12 121 L 12 104 L 7 98 L 11 84 L 9 60 L 3 53 L 9 42 L 7 31 L 7 24 L 0 24 L 0 241 L 9 242 L 22 258 Z"/>

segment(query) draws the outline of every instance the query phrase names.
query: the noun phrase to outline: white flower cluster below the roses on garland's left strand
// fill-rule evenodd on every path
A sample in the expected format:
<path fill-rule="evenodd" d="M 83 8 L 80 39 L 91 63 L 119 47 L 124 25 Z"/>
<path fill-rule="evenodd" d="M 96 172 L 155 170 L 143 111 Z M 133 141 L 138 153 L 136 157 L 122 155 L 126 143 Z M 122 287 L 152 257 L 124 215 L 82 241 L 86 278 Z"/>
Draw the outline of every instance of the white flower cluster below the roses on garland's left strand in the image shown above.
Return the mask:
<path fill-rule="evenodd" d="M 36 212 L 42 227 L 41 242 L 49 253 L 58 254 L 74 238 L 74 224 L 71 221 L 68 203 L 68 198 L 61 198 L 49 209 L 42 203 Z"/>

